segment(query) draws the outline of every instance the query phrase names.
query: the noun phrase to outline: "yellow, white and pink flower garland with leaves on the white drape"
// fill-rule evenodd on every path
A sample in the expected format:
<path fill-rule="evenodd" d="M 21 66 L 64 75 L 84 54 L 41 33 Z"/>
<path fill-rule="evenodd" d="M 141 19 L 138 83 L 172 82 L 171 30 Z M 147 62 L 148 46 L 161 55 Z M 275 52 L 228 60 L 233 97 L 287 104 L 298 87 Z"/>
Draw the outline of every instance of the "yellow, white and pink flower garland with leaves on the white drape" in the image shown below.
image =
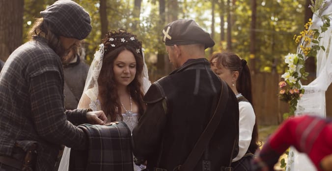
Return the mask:
<path fill-rule="evenodd" d="M 325 1 L 316 0 L 312 2 L 310 6 L 312 12 L 320 16 L 323 21 L 323 25 L 320 29 L 310 29 L 312 24 L 311 19 L 304 25 L 304 31 L 300 35 L 295 35 L 295 43 L 299 43 L 297 53 L 285 56 L 284 62 L 287 64 L 287 68 L 281 78 L 284 81 L 279 82 L 280 91 L 278 93 L 279 99 L 281 101 L 287 102 L 289 104 L 289 112 L 284 113 L 283 117 L 287 118 L 289 116 L 294 116 L 298 100 L 304 94 L 304 89 L 301 88 L 301 80 L 306 80 L 308 73 L 304 70 L 304 62 L 308 57 L 316 57 L 317 51 L 325 47 L 319 45 L 320 34 L 325 32 L 330 27 L 330 19 L 328 16 L 321 16 L 321 12 L 324 11 L 326 7 Z"/>

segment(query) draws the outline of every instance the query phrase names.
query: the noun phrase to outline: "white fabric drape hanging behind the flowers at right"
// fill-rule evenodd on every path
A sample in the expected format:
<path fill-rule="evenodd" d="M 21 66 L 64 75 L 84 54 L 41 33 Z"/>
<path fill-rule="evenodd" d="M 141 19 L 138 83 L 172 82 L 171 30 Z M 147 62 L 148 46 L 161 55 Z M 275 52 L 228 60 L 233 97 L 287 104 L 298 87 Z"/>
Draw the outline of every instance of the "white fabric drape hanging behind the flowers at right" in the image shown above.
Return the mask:
<path fill-rule="evenodd" d="M 327 8 L 322 11 L 320 16 L 316 14 L 312 17 L 310 29 L 319 29 L 323 25 L 321 16 L 327 15 L 332 21 L 332 4 L 327 0 Z M 303 113 L 315 116 L 326 117 L 325 92 L 332 82 L 332 26 L 320 35 L 319 45 L 323 45 L 326 50 L 320 49 L 317 52 L 317 70 L 316 79 L 308 85 L 303 85 L 304 95 L 298 102 L 295 115 Z M 310 159 L 304 154 L 298 152 L 294 147 L 289 151 L 286 171 L 316 171 Z"/>

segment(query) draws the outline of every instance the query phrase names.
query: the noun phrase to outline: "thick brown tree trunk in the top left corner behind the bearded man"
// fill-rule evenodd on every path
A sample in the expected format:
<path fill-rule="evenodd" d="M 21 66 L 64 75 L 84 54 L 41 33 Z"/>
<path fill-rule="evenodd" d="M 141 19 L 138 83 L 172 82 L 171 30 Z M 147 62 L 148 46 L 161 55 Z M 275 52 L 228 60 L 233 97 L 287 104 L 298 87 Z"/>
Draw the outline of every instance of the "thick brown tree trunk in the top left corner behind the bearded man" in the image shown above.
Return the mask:
<path fill-rule="evenodd" d="M 23 40 L 23 0 L 0 0 L 0 60 L 22 44 Z"/>

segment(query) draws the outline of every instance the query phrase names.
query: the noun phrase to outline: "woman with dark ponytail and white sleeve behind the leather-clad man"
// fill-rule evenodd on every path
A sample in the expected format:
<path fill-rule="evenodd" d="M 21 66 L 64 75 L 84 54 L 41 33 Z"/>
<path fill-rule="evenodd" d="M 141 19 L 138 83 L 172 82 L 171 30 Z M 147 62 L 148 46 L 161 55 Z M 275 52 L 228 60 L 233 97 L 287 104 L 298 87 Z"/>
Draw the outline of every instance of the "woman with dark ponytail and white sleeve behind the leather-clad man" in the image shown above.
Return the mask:
<path fill-rule="evenodd" d="M 247 61 L 234 53 L 212 55 L 211 69 L 233 90 L 239 102 L 239 153 L 232 160 L 234 171 L 248 171 L 258 149 L 258 130 L 252 107 L 251 77 Z"/>

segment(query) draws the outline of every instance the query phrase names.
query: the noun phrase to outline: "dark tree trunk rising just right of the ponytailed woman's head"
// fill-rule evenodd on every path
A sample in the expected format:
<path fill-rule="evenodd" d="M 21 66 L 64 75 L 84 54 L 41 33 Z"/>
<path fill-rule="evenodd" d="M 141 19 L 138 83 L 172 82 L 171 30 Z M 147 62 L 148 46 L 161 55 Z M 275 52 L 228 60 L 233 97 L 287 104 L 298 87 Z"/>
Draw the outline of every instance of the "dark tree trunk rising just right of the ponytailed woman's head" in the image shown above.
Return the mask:
<path fill-rule="evenodd" d="M 256 46 L 256 0 L 251 0 L 251 23 L 250 23 L 250 70 L 256 73 L 255 46 Z"/>

